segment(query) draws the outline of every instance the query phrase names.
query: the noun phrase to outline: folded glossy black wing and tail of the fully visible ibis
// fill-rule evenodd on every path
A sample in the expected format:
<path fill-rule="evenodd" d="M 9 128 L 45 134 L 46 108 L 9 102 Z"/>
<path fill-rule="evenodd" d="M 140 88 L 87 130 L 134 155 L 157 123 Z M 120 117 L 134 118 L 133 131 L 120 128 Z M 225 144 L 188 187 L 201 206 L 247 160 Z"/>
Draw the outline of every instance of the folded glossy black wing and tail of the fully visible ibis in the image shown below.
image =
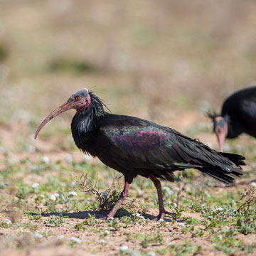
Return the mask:
<path fill-rule="evenodd" d="M 242 175 L 242 156 L 218 153 L 196 139 L 153 122 L 108 115 L 111 122 L 101 124 L 100 137 L 108 142 L 113 161 L 123 169 L 138 174 L 139 170 L 148 170 L 149 175 L 158 171 L 161 178 L 173 180 L 171 172 L 193 168 L 223 183 Z"/>

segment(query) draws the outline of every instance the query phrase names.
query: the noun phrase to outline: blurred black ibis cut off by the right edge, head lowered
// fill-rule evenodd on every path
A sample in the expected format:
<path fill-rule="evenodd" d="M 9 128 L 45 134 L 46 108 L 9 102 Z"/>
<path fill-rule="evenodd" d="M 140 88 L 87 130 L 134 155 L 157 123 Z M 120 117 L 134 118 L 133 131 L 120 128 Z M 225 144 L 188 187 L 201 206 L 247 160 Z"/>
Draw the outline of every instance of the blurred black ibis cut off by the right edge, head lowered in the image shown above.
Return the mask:
<path fill-rule="evenodd" d="M 208 117 L 221 152 L 225 138 L 234 139 L 242 132 L 256 137 L 256 87 L 233 93 L 223 103 L 221 114 L 208 112 Z"/>

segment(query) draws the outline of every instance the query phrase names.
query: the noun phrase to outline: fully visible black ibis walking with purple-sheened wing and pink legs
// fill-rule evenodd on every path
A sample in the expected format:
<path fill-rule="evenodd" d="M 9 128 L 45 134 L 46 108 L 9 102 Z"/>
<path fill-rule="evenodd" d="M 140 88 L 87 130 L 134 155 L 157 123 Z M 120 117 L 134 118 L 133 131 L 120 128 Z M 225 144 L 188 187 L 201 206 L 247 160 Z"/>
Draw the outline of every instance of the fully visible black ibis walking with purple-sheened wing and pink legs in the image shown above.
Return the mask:
<path fill-rule="evenodd" d="M 132 180 L 138 175 L 150 178 L 156 187 L 159 198 L 156 219 L 171 214 L 164 209 L 158 178 L 174 181 L 174 171 L 189 168 L 198 169 L 225 184 L 242 175 L 243 156 L 219 153 L 196 139 L 154 122 L 110 114 L 104 106 L 102 100 L 87 89 L 75 92 L 43 120 L 35 139 L 50 119 L 67 110 L 76 110 L 71 123 L 75 144 L 124 175 L 124 190 L 106 218 L 117 212 L 128 195 Z"/>

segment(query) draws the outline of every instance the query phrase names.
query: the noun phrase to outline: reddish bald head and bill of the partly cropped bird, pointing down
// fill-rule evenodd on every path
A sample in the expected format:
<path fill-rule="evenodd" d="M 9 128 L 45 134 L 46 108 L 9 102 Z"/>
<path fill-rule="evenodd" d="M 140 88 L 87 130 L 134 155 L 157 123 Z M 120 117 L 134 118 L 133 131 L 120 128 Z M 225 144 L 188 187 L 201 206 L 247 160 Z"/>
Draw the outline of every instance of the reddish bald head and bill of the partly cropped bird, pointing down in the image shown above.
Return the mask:
<path fill-rule="evenodd" d="M 207 115 L 213 121 L 213 132 L 217 136 L 220 152 L 223 152 L 225 138 L 228 135 L 228 123 L 220 114 L 208 112 Z"/>

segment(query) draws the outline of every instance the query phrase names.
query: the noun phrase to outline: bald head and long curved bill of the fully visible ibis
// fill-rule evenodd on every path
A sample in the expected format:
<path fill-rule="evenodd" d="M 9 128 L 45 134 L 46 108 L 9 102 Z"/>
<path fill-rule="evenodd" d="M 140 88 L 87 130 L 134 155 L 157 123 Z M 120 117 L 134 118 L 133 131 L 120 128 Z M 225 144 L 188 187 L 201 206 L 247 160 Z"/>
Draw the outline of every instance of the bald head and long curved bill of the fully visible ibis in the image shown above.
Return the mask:
<path fill-rule="evenodd" d="M 38 136 L 41 129 L 50 121 L 50 119 L 53 119 L 53 117 L 58 116 L 58 114 L 61 114 L 71 109 L 76 110 L 78 114 L 85 110 L 90 105 L 90 102 L 90 92 L 86 88 L 78 92 L 75 92 L 73 95 L 70 96 L 67 102 L 63 103 L 63 105 L 60 105 L 60 107 L 56 108 L 53 112 L 51 112 L 48 115 L 48 117 L 46 117 L 46 119 L 43 120 L 43 122 L 36 130 L 35 139 Z"/>

